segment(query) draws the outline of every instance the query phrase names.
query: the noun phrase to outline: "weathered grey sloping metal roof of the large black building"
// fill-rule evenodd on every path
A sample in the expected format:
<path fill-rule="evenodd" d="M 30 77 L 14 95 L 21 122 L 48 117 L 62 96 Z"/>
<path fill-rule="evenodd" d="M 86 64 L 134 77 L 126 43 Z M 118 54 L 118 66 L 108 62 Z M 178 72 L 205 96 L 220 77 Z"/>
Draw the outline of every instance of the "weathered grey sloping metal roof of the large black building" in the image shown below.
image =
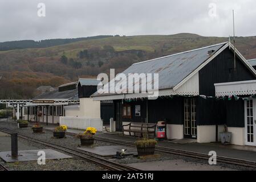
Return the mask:
<path fill-rule="evenodd" d="M 135 63 L 123 73 L 159 73 L 159 90 L 172 89 L 227 42 Z M 209 54 L 209 51 L 214 51 Z M 128 80 L 128 79 L 127 79 Z M 103 96 L 94 93 L 92 96 Z"/>

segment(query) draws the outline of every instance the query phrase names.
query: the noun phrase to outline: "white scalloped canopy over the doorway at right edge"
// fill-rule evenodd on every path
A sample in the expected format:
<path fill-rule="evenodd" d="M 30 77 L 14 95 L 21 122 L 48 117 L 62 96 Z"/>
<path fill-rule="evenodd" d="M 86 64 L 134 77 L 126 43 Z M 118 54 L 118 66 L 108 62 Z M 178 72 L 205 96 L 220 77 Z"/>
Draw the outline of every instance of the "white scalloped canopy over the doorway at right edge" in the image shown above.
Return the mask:
<path fill-rule="evenodd" d="M 256 94 L 256 80 L 214 84 L 216 97 Z"/>

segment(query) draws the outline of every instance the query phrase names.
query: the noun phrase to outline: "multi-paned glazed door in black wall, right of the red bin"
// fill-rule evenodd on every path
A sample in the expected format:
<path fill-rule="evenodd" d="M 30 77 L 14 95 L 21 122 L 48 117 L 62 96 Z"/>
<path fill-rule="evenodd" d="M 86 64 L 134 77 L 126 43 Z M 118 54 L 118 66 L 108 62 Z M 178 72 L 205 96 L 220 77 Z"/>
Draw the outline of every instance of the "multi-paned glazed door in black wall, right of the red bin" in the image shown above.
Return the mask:
<path fill-rule="evenodd" d="M 184 99 L 184 138 L 197 138 L 196 100 Z"/>

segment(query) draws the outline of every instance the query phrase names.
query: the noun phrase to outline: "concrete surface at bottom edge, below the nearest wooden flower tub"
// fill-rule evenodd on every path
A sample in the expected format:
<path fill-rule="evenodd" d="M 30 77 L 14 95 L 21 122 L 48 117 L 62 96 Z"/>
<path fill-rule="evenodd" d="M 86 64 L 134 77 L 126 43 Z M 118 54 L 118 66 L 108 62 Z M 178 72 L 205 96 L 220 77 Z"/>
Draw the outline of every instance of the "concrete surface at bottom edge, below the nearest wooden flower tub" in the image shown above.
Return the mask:
<path fill-rule="evenodd" d="M 127 166 L 135 167 L 143 171 L 233 171 L 233 169 L 221 166 L 196 164 L 192 162 L 185 162 L 181 159 L 133 163 L 127 164 Z"/>

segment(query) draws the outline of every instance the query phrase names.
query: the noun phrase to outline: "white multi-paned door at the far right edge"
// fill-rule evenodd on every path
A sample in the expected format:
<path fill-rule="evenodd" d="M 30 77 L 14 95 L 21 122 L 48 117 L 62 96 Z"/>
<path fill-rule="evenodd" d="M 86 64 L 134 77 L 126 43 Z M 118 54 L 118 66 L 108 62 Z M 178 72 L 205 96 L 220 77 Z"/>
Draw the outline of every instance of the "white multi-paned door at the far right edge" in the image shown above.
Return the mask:
<path fill-rule="evenodd" d="M 245 101 L 245 144 L 256 146 L 256 100 Z"/>

